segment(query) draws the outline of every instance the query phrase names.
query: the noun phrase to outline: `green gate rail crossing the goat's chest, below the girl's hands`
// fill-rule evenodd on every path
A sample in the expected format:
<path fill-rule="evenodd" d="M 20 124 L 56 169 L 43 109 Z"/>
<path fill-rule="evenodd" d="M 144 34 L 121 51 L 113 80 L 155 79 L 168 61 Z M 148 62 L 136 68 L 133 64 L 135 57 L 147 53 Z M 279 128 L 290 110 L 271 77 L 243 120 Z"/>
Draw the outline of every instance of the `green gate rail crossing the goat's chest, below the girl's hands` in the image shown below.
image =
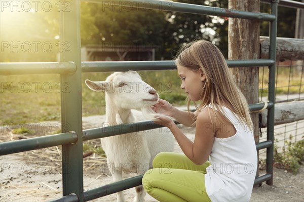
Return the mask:
<path fill-rule="evenodd" d="M 267 108 L 273 106 L 272 102 L 268 102 Z M 264 107 L 264 103 L 249 104 L 250 111 L 260 110 Z M 178 122 L 175 122 L 179 124 Z M 157 128 L 164 128 L 162 125 L 155 124 L 152 120 L 145 120 L 142 122 L 113 125 L 101 128 L 83 130 L 83 141 L 93 140 L 97 138 L 110 137 L 115 135 L 122 135 L 127 133 L 134 133 L 139 131 L 148 131 Z M 165 131 L 166 132 L 166 131 Z M 169 131 L 168 131 L 169 132 Z M 46 147 L 71 144 L 78 141 L 76 133 L 60 133 L 55 135 L 48 135 L 43 137 L 35 137 L 23 140 L 15 140 L 0 143 L 0 155 L 7 155 L 33 149 L 42 149 Z M 264 144 L 261 144 L 264 145 Z M 257 146 L 257 149 L 261 146 Z M 265 148 L 265 147 L 263 147 Z"/>

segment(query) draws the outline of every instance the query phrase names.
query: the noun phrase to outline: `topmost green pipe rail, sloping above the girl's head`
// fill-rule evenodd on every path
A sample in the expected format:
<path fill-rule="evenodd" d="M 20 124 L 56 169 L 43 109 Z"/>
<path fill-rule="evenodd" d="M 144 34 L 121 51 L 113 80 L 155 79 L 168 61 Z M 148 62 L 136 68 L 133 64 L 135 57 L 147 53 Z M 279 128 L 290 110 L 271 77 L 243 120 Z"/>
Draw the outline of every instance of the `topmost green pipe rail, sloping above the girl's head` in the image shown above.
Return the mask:
<path fill-rule="evenodd" d="M 178 3 L 172 1 L 159 1 L 159 0 L 113 0 L 108 2 L 94 1 L 89 2 L 101 3 L 104 8 L 111 8 L 111 6 L 121 6 L 125 10 L 127 8 L 141 8 L 143 10 L 160 10 L 160 11 L 173 11 L 179 13 L 191 13 L 199 15 L 215 15 L 221 17 L 232 17 L 232 18 L 242 18 L 242 19 L 252 19 L 252 20 L 267 20 L 274 21 L 276 19 L 275 15 L 266 13 L 254 13 L 237 11 L 225 8 L 209 7 L 202 5 L 193 5 Z"/>

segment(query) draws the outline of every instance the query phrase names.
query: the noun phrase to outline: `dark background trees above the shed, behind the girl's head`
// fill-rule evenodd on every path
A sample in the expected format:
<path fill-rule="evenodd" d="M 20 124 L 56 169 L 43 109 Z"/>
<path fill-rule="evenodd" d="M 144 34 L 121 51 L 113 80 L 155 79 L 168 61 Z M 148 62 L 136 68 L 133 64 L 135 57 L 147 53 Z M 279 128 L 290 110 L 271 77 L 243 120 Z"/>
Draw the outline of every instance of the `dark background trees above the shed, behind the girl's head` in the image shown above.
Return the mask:
<path fill-rule="evenodd" d="M 194 0 L 178 2 L 201 5 L 208 3 Z M 212 2 L 209 6 L 225 5 L 225 1 L 220 1 Z M 223 53 L 227 50 L 227 21 L 220 17 L 105 6 L 102 3 L 87 6 L 90 7 L 91 16 L 94 16 L 94 25 L 98 31 L 91 35 L 90 40 L 85 40 L 82 36 L 82 45 L 158 46 L 156 60 L 173 59 L 182 44 L 195 39 L 212 41 L 221 47 Z M 220 36 L 225 36 L 224 40 Z"/>

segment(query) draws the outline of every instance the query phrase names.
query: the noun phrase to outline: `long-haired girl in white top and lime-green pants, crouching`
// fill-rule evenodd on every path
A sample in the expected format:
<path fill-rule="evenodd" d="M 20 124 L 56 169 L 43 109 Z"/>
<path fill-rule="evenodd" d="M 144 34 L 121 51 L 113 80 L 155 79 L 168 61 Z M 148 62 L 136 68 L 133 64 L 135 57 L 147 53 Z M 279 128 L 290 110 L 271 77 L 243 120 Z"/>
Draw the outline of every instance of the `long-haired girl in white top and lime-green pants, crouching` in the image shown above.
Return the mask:
<path fill-rule="evenodd" d="M 249 201 L 257 169 L 253 127 L 223 55 L 210 42 L 197 41 L 181 49 L 176 65 L 188 111 L 160 99 L 154 122 L 170 129 L 185 155 L 159 153 L 143 176 L 144 189 L 159 201 Z M 168 115 L 196 127 L 194 142 Z"/>

